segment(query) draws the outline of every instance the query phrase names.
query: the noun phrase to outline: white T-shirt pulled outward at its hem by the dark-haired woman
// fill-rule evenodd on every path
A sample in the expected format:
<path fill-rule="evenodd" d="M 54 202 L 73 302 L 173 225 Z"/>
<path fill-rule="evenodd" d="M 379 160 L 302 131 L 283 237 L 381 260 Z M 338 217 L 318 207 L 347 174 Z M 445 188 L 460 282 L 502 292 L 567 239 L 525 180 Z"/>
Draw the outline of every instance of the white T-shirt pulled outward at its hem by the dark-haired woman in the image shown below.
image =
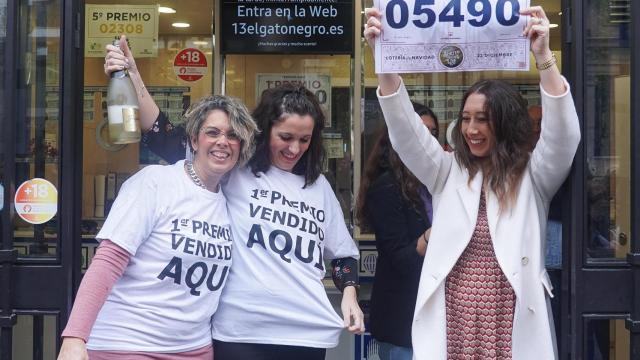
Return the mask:
<path fill-rule="evenodd" d="M 323 259 L 358 257 L 324 176 L 271 167 L 232 172 L 225 194 L 234 235 L 233 267 L 213 317 L 216 340 L 334 347 L 343 328 L 322 283 Z"/>

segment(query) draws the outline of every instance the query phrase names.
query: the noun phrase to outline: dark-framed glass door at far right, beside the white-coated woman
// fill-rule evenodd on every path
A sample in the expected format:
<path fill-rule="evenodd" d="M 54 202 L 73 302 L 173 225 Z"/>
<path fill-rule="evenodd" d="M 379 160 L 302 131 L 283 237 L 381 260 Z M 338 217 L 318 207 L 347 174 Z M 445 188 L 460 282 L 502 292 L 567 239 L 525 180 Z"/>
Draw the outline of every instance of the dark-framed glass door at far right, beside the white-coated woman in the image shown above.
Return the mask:
<path fill-rule="evenodd" d="M 640 346 L 633 220 L 640 204 L 634 201 L 632 185 L 638 182 L 633 171 L 639 160 L 633 150 L 638 114 L 632 111 L 638 99 L 638 88 L 632 85 L 638 82 L 632 64 L 640 50 L 633 43 L 636 19 L 631 1 L 573 3 L 575 56 L 581 58 L 574 62 L 580 79 L 574 94 L 583 121 L 583 146 L 571 184 L 578 227 L 571 234 L 575 296 L 570 321 L 577 336 L 569 352 L 579 359 L 635 359 Z"/>

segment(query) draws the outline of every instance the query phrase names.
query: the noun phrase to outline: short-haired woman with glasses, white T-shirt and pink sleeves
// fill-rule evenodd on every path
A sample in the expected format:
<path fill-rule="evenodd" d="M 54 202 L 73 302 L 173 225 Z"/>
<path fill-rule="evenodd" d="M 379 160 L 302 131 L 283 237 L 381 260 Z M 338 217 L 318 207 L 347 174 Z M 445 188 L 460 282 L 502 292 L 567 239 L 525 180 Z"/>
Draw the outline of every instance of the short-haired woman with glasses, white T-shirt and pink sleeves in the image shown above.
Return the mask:
<path fill-rule="evenodd" d="M 211 316 L 232 262 L 220 183 L 249 160 L 257 127 L 226 96 L 201 99 L 185 118 L 193 160 L 147 166 L 123 184 L 59 360 L 212 359 Z"/>

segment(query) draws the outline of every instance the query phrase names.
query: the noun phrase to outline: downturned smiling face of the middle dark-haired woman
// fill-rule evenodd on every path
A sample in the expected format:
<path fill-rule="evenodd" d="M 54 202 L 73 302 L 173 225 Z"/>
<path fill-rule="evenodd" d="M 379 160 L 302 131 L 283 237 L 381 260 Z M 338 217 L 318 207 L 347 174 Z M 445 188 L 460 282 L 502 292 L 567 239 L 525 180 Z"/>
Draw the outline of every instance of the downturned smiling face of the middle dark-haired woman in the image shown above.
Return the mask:
<path fill-rule="evenodd" d="M 282 117 L 271 127 L 271 164 L 280 170 L 292 172 L 311 145 L 314 122 L 310 115 L 283 114 Z"/>

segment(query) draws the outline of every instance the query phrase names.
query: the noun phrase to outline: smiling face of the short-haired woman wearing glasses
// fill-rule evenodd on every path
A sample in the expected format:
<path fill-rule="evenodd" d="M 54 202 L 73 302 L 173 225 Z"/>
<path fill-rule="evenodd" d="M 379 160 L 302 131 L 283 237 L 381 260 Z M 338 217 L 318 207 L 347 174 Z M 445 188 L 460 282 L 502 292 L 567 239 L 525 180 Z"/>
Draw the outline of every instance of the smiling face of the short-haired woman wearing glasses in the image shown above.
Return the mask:
<path fill-rule="evenodd" d="M 240 141 L 233 133 L 229 117 L 222 110 L 212 110 L 202 123 L 197 137 L 191 139 L 198 176 L 205 183 L 219 180 L 233 169 L 240 155 Z"/>

